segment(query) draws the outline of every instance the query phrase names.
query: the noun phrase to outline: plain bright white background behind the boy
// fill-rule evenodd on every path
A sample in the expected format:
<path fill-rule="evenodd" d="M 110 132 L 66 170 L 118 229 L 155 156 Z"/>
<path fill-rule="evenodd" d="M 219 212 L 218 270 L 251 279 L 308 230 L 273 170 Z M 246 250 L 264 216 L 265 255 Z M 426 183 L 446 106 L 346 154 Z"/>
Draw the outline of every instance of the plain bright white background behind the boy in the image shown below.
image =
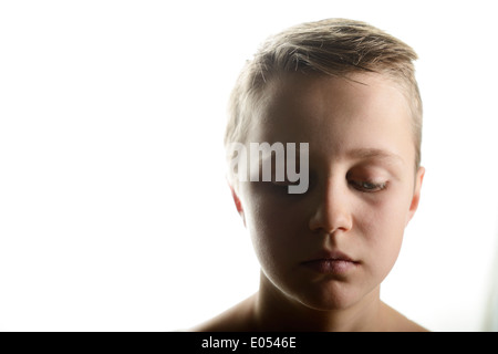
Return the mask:
<path fill-rule="evenodd" d="M 485 330 L 498 236 L 494 1 L 0 2 L 0 330 L 189 327 L 257 290 L 226 103 L 271 33 L 370 22 L 418 53 L 423 199 L 382 298 Z"/>

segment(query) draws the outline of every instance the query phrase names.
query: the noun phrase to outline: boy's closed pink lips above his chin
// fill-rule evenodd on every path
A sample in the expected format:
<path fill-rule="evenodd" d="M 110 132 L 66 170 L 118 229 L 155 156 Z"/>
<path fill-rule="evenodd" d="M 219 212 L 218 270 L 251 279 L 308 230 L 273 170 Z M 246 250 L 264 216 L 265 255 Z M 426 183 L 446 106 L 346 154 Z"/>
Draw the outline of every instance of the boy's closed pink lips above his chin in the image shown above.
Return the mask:
<path fill-rule="evenodd" d="M 359 267 L 360 261 L 341 251 L 321 251 L 301 264 L 318 273 L 344 275 Z"/>

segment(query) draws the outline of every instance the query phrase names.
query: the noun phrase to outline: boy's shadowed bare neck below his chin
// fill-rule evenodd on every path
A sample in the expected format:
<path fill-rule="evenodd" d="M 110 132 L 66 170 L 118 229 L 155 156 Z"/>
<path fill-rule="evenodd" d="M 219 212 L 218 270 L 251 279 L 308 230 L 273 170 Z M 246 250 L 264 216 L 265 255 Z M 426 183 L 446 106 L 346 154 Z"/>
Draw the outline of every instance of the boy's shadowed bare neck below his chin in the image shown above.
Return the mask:
<path fill-rule="evenodd" d="M 277 289 L 261 273 L 253 314 L 262 331 L 356 332 L 381 330 L 380 287 L 345 309 L 317 310 Z"/>

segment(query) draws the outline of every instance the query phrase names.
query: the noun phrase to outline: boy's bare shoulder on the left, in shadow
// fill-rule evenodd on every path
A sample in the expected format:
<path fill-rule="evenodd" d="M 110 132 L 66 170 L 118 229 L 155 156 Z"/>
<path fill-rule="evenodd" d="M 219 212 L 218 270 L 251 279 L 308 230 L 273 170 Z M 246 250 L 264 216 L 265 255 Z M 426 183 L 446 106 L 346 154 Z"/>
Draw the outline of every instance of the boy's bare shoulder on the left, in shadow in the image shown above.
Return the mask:
<path fill-rule="evenodd" d="M 248 332 L 253 330 L 253 296 L 243 300 L 216 317 L 194 326 L 191 332 Z"/>

